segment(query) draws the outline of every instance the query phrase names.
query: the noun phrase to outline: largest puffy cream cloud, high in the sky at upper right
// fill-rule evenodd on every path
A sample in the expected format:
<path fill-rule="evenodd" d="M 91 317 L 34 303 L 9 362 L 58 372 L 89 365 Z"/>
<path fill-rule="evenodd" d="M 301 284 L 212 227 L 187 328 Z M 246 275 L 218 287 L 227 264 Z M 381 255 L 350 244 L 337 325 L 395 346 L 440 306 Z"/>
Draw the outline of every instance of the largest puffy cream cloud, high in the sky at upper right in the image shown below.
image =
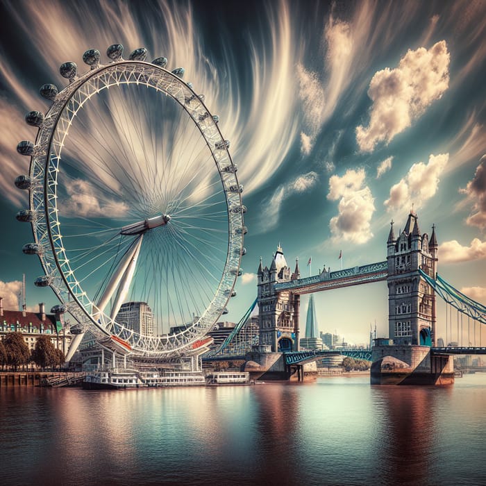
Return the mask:
<path fill-rule="evenodd" d="M 409 50 L 395 69 L 376 72 L 368 90 L 373 101 L 369 125 L 356 127 L 361 151 L 371 152 L 378 142 L 389 142 L 442 97 L 449 87 L 449 58 L 442 40 L 428 50 Z"/>

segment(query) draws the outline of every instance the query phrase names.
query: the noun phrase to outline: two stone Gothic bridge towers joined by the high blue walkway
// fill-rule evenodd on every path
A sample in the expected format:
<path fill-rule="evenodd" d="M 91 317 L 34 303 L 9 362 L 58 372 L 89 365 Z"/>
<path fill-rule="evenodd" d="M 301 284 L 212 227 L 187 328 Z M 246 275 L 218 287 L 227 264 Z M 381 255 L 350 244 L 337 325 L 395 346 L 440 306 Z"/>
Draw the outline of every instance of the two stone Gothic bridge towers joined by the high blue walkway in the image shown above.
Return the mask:
<path fill-rule="evenodd" d="M 351 285 L 387 280 L 389 338 L 399 345 L 435 344 L 435 292 L 421 272 L 435 278 L 437 237 L 419 230 L 417 214 L 410 212 L 403 231 L 394 235 L 393 222 L 387 240 L 387 260 L 349 269 L 300 278 L 287 265 L 278 245 L 271 265 L 258 267 L 260 344 L 271 351 L 299 351 L 300 296 Z"/>

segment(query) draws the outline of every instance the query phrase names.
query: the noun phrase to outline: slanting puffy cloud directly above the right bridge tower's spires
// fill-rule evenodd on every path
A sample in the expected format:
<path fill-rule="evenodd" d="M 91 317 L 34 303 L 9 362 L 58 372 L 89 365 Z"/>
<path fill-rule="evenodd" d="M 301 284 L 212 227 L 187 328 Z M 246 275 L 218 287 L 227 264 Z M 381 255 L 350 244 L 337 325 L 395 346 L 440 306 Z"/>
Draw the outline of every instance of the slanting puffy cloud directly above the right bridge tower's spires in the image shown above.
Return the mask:
<path fill-rule="evenodd" d="M 437 192 L 439 176 L 449 161 L 449 153 L 433 154 L 428 163 L 417 162 L 410 167 L 408 174 L 389 190 L 385 201 L 389 211 L 410 210 L 412 203 L 419 209 Z"/>

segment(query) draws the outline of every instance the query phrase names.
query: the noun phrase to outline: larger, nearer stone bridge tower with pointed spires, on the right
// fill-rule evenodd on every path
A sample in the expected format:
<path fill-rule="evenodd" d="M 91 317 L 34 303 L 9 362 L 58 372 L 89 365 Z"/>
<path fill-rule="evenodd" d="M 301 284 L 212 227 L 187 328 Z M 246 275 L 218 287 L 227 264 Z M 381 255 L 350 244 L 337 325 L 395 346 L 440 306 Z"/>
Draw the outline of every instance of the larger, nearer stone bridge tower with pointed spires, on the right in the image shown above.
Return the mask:
<path fill-rule="evenodd" d="M 396 238 L 393 221 L 387 240 L 388 325 L 394 344 L 435 344 L 435 292 L 419 274 L 437 272 L 435 227 L 430 240 L 421 234 L 417 214 L 410 212 Z"/>

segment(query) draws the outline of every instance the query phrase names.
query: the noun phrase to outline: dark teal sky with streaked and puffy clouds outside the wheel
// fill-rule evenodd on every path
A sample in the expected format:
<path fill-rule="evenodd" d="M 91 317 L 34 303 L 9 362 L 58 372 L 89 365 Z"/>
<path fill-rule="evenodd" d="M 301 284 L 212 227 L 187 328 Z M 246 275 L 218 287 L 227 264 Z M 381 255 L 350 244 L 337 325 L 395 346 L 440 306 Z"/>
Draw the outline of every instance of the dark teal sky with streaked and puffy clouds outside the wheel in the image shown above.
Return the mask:
<path fill-rule="evenodd" d="M 40 85 L 65 85 L 62 62 L 115 42 L 183 66 L 231 141 L 249 232 L 226 319 L 249 307 L 278 244 L 302 276 L 383 261 L 390 221 L 398 233 L 412 208 L 422 232 L 435 224 L 439 274 L 486 303 L 485 40 L 486 1 L 0 0 L 4 306 L 17 308 L 22 274 L 29 309 L 57 303 L 34 287 L 32 231 L 15 219 L 28 207 L 15 147 L 35 137 L 24 115 L 47 109 Z M 347 342 L 367 343 L 375 323 L 387 335 L 386 283 L 315 305 L 319 329 Z M 444 316 L 439 304 L 445 340 Z"/>

